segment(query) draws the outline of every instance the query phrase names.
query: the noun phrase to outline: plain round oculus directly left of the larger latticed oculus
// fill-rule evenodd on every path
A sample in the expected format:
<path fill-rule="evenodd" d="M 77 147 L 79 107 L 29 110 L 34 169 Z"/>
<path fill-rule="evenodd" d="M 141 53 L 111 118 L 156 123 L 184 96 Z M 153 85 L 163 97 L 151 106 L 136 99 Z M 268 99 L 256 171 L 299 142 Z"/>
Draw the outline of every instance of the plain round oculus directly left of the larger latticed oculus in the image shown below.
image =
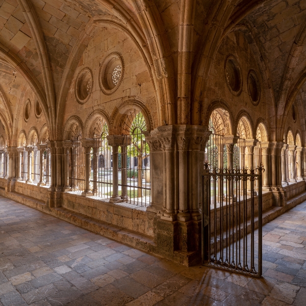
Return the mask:
<path fill-rule="evenodd" d="M 75 81 L 75 98 L 80 104 L 86 103 L 93 87 L 93 75 L 89 67 L 82 69 Z"/>

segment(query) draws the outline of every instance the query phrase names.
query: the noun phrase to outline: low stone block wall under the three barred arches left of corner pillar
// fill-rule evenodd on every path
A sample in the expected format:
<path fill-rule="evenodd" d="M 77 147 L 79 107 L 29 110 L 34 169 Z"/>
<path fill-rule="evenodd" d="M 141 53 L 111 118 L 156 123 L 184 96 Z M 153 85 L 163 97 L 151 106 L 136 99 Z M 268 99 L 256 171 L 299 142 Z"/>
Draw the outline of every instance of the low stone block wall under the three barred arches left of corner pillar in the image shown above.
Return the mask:
<path fill-rule="evenodd" d="M 154 237 L 155 213 L 145 207 L 128 203 L 110 203 L 95 197 L 84 197 L 72 192 L 63 192 L 62 207 L 103 222 L 126 228 L 146 236 Z"/>

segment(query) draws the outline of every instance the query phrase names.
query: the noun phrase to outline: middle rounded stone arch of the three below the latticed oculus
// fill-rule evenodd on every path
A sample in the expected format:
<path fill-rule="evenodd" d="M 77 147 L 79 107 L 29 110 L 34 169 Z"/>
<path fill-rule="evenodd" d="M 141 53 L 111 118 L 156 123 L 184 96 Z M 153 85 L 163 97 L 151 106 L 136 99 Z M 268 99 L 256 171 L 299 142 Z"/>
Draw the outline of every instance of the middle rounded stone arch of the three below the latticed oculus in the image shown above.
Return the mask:
<path fill-rule="evenodd" d="M 106 123 L 108 126 L 108 129 L 110 129 L 111 119 L 108 115 L 108 113 L 103 109 L 96 109 L 92 111 L 86 121 L 85 121 L 85 127 L 84 127 L 84 137 L 94 138 L 95 137 L 95 129 L 99 129 L 99 125 L 102 124 L 102 127 Z"/>

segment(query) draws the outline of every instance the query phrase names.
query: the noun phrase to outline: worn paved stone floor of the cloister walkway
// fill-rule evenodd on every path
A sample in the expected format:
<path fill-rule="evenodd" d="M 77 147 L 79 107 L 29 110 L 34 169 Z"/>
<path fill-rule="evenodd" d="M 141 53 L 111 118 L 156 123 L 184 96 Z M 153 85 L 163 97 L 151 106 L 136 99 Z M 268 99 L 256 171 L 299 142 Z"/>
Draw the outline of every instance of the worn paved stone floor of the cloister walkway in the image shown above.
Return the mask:
<path fill-rule="evenodd" d="M 187 268 L 0 197 L 0 306 L 306 305 L 306 202 L 263 229 L 264 276 Z"/>

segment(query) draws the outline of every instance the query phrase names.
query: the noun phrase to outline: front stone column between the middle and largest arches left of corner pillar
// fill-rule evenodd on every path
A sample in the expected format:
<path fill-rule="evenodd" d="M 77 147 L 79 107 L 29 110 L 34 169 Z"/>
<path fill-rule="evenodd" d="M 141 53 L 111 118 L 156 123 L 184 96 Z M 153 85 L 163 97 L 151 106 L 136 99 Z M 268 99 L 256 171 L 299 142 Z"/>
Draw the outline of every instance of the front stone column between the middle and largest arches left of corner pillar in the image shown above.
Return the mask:
<path fill-rule="evenodd" d="M 118 195 L 118 147 L 123 144 L 124 136 L 109 135 L 107 136 L 109 145 L 113 148 L 113 192 L 110 198 L 111 203 L 121 202 L 121 197 Z"/>

